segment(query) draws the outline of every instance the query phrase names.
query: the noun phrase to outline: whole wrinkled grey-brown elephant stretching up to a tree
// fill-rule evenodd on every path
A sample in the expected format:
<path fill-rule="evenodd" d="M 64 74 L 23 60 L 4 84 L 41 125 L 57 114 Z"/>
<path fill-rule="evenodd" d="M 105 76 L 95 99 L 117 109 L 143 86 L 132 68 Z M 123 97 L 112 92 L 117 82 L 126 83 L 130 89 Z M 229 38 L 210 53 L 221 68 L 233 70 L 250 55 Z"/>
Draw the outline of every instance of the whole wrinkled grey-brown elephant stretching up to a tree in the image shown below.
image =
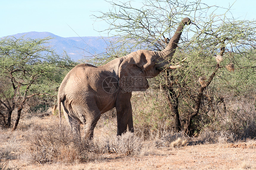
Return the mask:
<path fill-rule="evenodd" d="M 134 132 L 131 91 L 145 90 L 149 88 L 146 78 L 157 76 L 165 68 L 177 68 L 168 66 L 167 56 L 174 54 L 183 27 L 189 24 L 189 18 L 182 20 L 163 51 L 138 50 L 103 66 L 96 67 L 90 64 L 75 66 L 66 75 L 59 88 L 60 122 L 62 107 L 73 134 L 80 137 L 80 124 L 83 124 L 85 137 L 93 138 L 93 130 L 101 114 L 115 107 L 117 135 L 125 133 L 127 125 L 129 131 Z M 107 87 L 112 87 L 112 90 Z"/>

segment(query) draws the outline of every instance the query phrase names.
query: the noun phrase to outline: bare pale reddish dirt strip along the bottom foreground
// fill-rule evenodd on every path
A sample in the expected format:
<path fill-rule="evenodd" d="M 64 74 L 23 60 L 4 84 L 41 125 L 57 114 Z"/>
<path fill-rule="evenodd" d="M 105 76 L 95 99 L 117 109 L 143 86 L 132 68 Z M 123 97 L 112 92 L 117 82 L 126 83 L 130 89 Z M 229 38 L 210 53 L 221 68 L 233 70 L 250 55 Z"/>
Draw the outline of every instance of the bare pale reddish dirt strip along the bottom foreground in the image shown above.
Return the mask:
<path fill-rule="evenodd" d="M 248 145 L 248 144 L 247 144 Z M 159 148 L 150 154 L 125 156 L 101 155 L 89 163 L 52 163 L 40 165 L 12 160 L 10 167 L 18 169 L 256 169 L 256 148 L 232 147 L 230 144 L 202 144 L 183 148 Z"/>

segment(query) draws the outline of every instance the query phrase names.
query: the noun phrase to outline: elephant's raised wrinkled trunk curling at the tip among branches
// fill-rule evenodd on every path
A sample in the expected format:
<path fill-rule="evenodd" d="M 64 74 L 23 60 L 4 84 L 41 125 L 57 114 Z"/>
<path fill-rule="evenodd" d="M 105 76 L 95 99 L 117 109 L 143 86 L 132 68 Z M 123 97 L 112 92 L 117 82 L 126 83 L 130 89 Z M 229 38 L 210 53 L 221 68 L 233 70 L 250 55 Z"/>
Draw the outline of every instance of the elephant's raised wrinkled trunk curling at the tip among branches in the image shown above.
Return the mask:
<path fill-rule="evenodd" d="M 174 33 L 173 37 L 169 41 L 168 45 L 163 51 L 158 52 L 159 56 L 166 58 L 171 57 L 175 53 L 175 50 L 177 48 L 180 36 L 182 34 L 183 27 L 185 25 L 189 25 L 191 23 L 189 18 L 183 18 L 182 21 L 179 24 L 179 27 L 177 28 L 176 32 Z"/>

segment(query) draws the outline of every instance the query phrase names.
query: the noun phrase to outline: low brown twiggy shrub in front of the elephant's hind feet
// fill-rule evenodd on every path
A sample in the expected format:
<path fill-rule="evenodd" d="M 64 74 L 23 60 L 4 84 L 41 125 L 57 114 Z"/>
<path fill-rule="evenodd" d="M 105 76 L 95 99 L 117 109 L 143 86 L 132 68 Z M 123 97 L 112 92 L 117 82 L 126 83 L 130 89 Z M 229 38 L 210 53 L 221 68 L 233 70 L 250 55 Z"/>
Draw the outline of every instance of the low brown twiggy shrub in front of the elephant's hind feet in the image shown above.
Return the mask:
<path fill-rule="evenodd" d="M 32 160 L 40 164 L 86 161 L 92 148 L 93 145 L 88 140 L 81 142 L 79 138 L 73 137 L 69 127 L 48 125 L 30 136 L 29 150 Z"/>

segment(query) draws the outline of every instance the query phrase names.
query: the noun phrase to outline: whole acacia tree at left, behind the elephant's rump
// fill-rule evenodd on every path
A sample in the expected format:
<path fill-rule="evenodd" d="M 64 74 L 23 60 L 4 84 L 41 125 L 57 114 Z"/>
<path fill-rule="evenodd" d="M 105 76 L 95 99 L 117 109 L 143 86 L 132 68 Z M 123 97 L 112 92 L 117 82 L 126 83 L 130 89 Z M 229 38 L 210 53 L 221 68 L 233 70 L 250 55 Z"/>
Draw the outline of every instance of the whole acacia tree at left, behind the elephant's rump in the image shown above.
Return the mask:
<path fill-rule="evenodd" d="M 17 109 L 13 130 L 21 111 L 33 96 L 56 96 L 63 77 L 62 68 L 71 68 L 67 55 L 59 56 L 47 42 L 51 39 L 5 37 L 0 39 L 0 116 L 5 128 L 11 127 L 11 116 Z M 7 121 L 5 118 L 7 117 Z"/>

